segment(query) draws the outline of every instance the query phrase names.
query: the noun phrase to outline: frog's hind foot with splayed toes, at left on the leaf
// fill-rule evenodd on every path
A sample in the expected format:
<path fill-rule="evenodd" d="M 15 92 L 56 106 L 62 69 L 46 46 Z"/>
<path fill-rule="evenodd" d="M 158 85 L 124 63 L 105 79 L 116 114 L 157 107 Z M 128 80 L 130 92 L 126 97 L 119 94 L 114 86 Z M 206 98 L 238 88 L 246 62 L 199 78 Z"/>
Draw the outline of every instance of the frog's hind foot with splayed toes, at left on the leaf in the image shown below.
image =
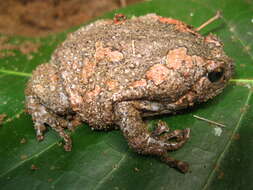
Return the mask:
<path fill-rule="evenodd" d="M 65 128 L 72 129 L 72 123 L 65 120 L 62 117 L 52 114 L 45 106 L 36 103 L 36 101 L 30 100 L 27 104 L 27 110 L 32 115 L 34 121 L 34 128 L 36 131 L 37 140 L 41 141 L 44 139 L 44 132 L 49 125 L 53 130 L 55 130 L 61 138 L 63 138 L 65 145 L 64 149 L 66 151 L 71 151 L 72 141 L 70 136 L 64 131 Z"/>

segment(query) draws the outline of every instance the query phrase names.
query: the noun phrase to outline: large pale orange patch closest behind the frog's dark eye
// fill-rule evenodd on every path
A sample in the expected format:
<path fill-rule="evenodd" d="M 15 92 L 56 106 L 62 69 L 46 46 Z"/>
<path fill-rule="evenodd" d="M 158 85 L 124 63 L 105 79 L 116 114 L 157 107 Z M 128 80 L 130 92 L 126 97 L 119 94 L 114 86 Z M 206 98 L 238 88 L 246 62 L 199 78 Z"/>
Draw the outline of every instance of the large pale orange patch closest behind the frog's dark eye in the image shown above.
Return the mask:
<path fill-rule="evenodd" d="M 171 69 L 179 69 L 182 66 L 192 68 L 193 62 L 203 62 L 204 60 L 196 55 L 187 55 L 187 49 L 184 47 L 170 50 L 167 54 L 167 66 Z"/>

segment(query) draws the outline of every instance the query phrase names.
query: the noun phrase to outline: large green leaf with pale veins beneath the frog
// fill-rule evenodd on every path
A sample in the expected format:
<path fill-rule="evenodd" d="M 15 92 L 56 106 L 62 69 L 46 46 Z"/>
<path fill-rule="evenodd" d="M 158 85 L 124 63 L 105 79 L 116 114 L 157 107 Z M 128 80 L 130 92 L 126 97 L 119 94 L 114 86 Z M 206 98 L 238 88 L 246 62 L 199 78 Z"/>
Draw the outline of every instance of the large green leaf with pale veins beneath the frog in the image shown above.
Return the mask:
<path fill-rule="evenodd" d="M 96 132 L 82 125 L 73 134 L 74 147 L 65 152 L 50 130 L 37 142 L 31 117 L 24 113 L 24 89 L 32 70 L 50 59 L 66 34 L 46 38 L 13 37 L 10 43 L 39 43 L 32 58 L 0 58 L 1 189 L 253 189 L 253 5 L 238 0 L 156 0 L 115 12 L 128 17 L 157 13 L 198 27 L 222 10 L 223 18 L 202 33 L 217 34 L 236 63 L 236 73 L 225 91 L 213 100 L 176 116 L 160 116 L 172 128 L 191 127 L 191 139 L 171 155 L 189 162 L 181 174 L 157 159 L 131 151 L 120 131 Z M 114 13 L 105 17 L 112 18 Z M 193 115 L 226 125 L 219 128 Z M 155 120 L 149 121 L 152 125 Z M 32 169 L 33 168 L 33 169 Z"/>

